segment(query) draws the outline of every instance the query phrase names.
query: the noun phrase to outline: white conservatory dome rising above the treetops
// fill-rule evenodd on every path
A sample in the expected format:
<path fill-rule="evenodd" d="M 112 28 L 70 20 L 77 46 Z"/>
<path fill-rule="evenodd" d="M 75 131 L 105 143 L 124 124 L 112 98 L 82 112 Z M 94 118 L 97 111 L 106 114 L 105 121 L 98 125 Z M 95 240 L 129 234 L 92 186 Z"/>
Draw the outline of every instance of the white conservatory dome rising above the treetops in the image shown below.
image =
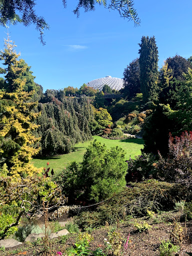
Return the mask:
<path fill-rule="evenodd" d="M 111 89 L 119 90 L 123 88 L 123 79 L 111 77 L 110 75 L 107 75 L 102 78 L 94 79 L 90 82 L 87 82 L 86 85 L 93 87 L 94 89 L 102 90 L 102 87 L 104 84 L 107 84 Z"/>

